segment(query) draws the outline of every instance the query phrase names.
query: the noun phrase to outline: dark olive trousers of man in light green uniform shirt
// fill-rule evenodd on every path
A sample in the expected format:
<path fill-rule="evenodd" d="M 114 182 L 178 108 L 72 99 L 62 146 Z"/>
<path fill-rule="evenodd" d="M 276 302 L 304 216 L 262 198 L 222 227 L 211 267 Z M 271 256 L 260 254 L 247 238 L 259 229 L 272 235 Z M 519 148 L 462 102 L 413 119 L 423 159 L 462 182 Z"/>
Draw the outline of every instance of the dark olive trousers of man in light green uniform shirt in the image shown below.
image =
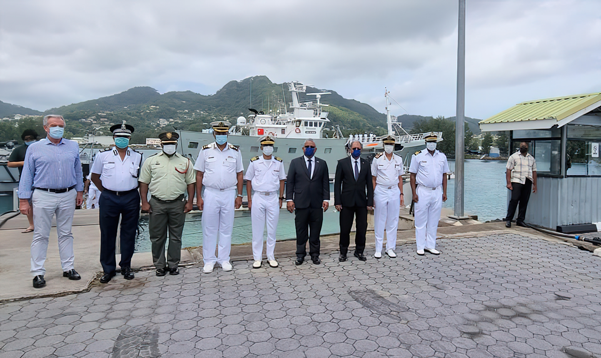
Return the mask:
<path fill-rule="evenodd" d="M 184 207 L 186 201 L 180 198 L 163 201 L 151 196 L 150 207 L 152 212 L 148 215 L 148 234 L 152 244 L 152 259 L 156 268 L 177 268 L 182 257 L 182 232 L 186 214 Z M 169 228 L 169 246 L 165 259 L 165 242 L 167 241 L 167 228 Z"/>

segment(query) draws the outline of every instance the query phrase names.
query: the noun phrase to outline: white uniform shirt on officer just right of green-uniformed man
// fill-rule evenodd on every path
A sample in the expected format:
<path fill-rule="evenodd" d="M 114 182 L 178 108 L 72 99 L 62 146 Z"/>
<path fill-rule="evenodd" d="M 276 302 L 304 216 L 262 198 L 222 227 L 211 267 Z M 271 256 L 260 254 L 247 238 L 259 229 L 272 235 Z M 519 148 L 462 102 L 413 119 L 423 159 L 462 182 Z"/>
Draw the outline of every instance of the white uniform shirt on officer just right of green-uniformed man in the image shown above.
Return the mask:
<path fill-rule="evenodd" d="M 213 189 L 235 189 L 238 183 L 236 173 L 244 170 L 242 153 L 237 147 L 225 144 L 223 151 L 215 142 L 204 145 L 198 153 L 194 169 L 204 172 L 203 185 Z"/>

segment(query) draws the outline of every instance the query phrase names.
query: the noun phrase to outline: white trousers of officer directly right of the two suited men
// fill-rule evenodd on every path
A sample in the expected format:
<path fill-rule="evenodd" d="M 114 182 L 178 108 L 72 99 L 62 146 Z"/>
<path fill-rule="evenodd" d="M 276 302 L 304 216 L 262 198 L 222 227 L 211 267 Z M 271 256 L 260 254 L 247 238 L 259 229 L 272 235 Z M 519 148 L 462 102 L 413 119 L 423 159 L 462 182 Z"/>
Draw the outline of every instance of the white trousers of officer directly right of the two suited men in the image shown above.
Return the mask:
<path fill-rule="evenodd" d="M 376 185 L 374 189 L 374 235 L 376 252 L 382 252 L 386 230 L 386 251 L 397 248 L 398 214 L 401 210 L 401 191 L 395 185 Z"/>

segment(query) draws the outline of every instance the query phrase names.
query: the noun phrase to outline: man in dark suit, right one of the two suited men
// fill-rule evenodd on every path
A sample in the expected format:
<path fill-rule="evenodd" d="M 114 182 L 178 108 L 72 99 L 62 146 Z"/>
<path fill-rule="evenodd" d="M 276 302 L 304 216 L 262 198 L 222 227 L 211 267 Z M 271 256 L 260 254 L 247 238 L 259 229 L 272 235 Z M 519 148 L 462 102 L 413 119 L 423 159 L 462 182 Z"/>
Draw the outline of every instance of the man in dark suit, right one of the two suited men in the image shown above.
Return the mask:
<path fill-rule="evenodd" d="M 361 261 L 367 260 L 365 250 L 365 232 L 367 232 L 367 210 L 373 207 L 374 190 L 371 180 L 370 163 L 361 158 L 361 142 L 351 144 L 350 158 L 338 160 L 334 180 L 334 205 L 340 211 L 340 258 L 346 261 L 349 249 L 350 228 L 355 216 L 355 256 Z"/>

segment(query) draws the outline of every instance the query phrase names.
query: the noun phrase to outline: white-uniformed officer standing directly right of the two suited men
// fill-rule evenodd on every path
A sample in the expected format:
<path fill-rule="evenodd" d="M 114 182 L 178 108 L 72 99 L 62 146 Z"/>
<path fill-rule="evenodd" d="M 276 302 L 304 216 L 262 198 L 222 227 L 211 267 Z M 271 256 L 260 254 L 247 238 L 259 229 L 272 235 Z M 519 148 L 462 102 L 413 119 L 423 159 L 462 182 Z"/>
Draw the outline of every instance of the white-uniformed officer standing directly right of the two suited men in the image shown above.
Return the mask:
<path fill-rule="evenodd" d="M 398 214 L 403 198 L 403 158 L 392 153 L 396 139 L 382 137 L 385 153 L 378 153 L 371 161 L 374 186 L 374 235 L 376 236 L 375 258 L 382 257 L 384 230 L 386 230 L 386 255 L 397 257 Z"/>

